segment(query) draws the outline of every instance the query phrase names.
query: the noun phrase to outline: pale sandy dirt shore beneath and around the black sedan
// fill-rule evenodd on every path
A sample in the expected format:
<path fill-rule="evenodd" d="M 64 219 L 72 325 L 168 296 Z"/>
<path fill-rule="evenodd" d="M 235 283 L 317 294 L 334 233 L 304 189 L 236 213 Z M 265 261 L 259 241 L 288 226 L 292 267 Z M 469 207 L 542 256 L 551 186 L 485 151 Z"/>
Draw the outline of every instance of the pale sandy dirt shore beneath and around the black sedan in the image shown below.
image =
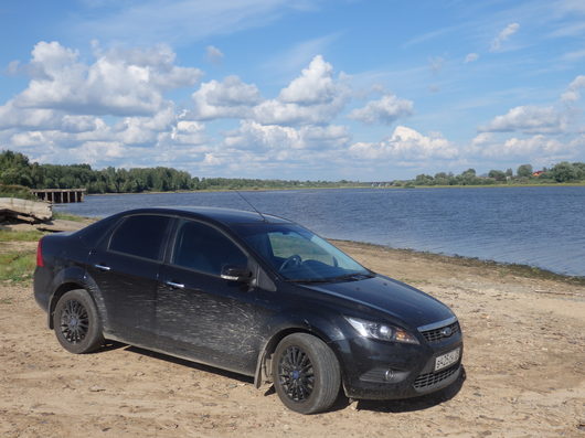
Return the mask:
<path fill-rule="evenodd" d="M 585 438 L 585 288 L 342 243 L 445 301 L 467 378 L 438 396 L 301 416 L 246 377 L 114 345 L 72 355 L 31 287 L 0 286 L 0 437 Z"/>

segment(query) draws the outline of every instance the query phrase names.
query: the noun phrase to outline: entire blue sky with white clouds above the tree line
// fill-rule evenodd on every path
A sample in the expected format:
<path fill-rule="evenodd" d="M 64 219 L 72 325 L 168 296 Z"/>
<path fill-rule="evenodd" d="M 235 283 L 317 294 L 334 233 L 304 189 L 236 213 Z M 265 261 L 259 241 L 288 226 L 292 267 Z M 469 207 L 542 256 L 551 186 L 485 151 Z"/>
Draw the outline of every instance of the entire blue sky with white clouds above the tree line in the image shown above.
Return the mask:
<path fill-rule="evenodd" d="M 390 181 L 585 161 L 583 0 L 4 0 L 0 149 Z"/>

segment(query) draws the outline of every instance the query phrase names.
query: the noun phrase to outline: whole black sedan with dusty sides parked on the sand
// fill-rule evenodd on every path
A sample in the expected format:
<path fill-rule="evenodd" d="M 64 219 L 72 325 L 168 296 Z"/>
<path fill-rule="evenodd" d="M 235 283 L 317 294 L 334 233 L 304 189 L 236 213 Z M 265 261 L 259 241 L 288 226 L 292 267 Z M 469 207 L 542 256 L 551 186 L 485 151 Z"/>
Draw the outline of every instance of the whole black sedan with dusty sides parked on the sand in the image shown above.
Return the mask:
<path fill-rule="evenodd" d="M 274 383 L 290 409 L 442 389 L 460 374 L 451 310 L 280 217 L 142 209 L 39 242 L 34 296 L 72 353 L 105 339 Z"/>

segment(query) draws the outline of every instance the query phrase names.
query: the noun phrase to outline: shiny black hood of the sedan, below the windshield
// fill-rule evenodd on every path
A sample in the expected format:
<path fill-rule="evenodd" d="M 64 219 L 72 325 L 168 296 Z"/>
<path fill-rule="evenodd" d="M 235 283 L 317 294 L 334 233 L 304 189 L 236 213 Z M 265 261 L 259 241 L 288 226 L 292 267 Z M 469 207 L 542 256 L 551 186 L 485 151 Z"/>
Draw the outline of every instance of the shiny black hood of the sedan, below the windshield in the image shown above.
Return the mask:
<path fill-rule="evenodd" d="M 437 299 L 394 279 L 375 276 L 362 280 L 308 285 L 308 288 L 336 296 L 360 307 L 389 314 L 411 328 L 453 318 L 453 311 Z"/>

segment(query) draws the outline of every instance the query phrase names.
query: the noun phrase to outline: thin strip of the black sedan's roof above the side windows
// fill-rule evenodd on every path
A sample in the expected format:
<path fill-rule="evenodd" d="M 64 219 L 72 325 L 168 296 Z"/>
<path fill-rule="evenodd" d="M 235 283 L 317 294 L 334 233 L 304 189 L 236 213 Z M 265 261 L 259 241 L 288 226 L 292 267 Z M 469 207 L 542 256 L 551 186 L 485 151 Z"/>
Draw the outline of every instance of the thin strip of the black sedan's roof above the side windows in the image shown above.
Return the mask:
<path fill-rule="evenodd" d="M 225 225 L 234 224 L 255 224 L 255 223 L 269 223 L 269 224 L 291 224 L 283 217 L 274 216 L 272 214 L 264 214 L 257 212 L 249 212 L 245 210 L 234 209 L 221 209 L 210 206 L 161 206 L 161 207 L 149 207 L 128 210 L 121 213 L 121 215 L 139 214 L 139 213 L 158 213 L 158 214 L 171 214 L 183 217 L 204 218 L 219 222 Z"/>

